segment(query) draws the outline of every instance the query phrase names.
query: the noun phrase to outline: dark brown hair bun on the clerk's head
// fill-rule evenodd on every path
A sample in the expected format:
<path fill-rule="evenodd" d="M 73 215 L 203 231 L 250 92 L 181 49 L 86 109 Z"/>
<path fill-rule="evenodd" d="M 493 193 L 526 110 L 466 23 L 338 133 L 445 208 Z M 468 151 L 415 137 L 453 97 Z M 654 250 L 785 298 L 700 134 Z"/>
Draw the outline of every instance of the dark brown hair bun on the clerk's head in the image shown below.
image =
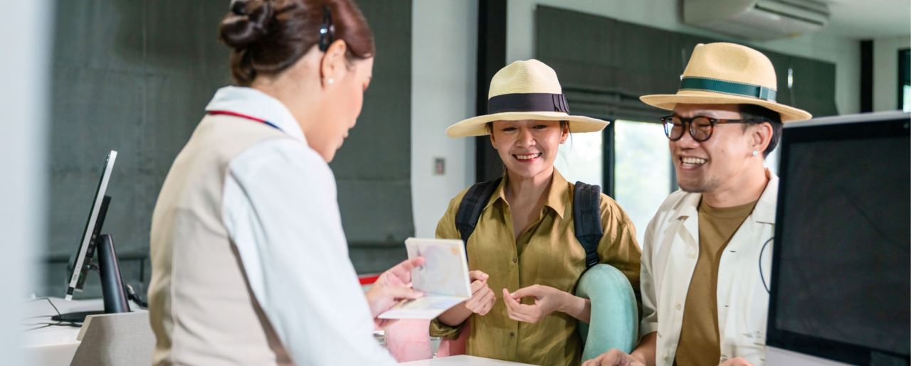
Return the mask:
<path fill-rule="evenodd" d="M 255 9 L 249 9 L 250 1 L 234 0 L 230 13 L 219 25 L 219 39 L 225 45 L 241 49 L 252 45 L 267 32 L 272 17 L 269 2 L 262 2 Z"/>

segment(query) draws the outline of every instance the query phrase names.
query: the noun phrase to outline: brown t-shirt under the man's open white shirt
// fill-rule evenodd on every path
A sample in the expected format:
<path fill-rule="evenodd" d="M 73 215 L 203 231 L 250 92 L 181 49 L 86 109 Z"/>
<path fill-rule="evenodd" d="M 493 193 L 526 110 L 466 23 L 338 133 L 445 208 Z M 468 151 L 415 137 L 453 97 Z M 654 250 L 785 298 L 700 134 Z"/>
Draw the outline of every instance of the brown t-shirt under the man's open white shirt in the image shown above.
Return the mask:
<path fill-rule="evenodd" d="M 756 207 L 753 201 L 732 208 L 699 205 L 699 259 L 692 271 L 683 308 L 681 338 L 675 364 L 717 365 L 721 359 L 718 335 L 718 264 L 734 233 Z"/>

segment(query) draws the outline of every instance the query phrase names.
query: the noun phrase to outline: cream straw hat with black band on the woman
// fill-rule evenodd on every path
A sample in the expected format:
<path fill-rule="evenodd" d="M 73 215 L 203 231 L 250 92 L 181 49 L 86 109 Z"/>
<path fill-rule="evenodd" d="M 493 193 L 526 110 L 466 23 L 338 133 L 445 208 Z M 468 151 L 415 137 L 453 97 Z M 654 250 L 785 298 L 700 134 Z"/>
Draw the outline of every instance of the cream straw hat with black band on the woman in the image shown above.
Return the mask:
<path fill-rule="evenodd" d="M 497 71 L 490 80 L 487 114 L 446 128 L 446 136 L 484 136 L 487 122 L 523 119 L 569 121 L 569 132 L 574 133 L 597 132 L 609 124 L 596 118 L 570 116 L 557 73 L 532 59 L 516 61 Z"/>

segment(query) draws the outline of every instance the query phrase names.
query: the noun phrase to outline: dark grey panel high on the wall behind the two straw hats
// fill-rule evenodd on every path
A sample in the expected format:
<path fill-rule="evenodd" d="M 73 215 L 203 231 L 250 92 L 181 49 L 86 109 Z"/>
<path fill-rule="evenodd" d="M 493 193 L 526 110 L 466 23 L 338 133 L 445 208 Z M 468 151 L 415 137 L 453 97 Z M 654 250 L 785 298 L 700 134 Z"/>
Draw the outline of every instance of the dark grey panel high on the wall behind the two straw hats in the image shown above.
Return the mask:
<path fill-rule="evenodd" d="M 570 110 L 610 119 L 657 122 L 667 112 L 639 97 L 676 93 L 693 48 L 721 42 L 543 5 L 535 22 L 535 56 L 557 71 Z M 775 68 L 779 103 L 814 117 L 838 114 L 833 63 L 758 50 Z"/>

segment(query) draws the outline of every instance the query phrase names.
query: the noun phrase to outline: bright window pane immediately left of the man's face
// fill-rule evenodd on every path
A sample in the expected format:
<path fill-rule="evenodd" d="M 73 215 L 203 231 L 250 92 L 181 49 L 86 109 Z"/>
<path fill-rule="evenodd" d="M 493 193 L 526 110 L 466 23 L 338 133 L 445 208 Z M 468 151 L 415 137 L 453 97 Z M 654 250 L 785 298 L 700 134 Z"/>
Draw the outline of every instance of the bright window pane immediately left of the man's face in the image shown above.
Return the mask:
<path fill-rule="evenodd" d="M 641 246 L 649 221 L 677 183 L 660 124 L 614 122 L 613 179 L 614 199 L 630 215 Z"/>

